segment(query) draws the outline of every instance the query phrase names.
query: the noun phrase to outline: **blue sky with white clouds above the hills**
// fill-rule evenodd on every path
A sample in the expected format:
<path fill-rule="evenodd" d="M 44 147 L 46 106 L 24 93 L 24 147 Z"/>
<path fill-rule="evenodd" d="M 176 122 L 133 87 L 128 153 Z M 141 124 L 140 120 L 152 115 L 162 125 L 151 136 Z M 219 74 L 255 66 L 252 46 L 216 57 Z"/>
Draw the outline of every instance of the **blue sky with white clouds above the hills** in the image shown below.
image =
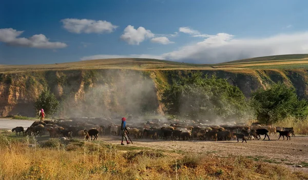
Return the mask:
<path fill-rule="evenodd" d="M 308 1 L 1 1 L 0 64 L 308 53 Z"/>

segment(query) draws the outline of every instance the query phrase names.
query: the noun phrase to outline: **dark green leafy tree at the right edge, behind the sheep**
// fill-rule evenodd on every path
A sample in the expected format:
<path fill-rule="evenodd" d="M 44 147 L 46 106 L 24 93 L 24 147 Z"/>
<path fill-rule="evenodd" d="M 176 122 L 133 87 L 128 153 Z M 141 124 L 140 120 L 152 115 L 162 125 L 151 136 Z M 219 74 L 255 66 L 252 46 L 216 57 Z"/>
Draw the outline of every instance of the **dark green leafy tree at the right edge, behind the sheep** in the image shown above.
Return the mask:
<path fill-rule="evenodd" d="M 298 99 L 294 87 L 287 87 L 279 82 L 269 89 L 260 88 L 254 92 L 251 105 L 258 121 L 273 124 L 287 116 L 305 118 L 308 103 Z"/>

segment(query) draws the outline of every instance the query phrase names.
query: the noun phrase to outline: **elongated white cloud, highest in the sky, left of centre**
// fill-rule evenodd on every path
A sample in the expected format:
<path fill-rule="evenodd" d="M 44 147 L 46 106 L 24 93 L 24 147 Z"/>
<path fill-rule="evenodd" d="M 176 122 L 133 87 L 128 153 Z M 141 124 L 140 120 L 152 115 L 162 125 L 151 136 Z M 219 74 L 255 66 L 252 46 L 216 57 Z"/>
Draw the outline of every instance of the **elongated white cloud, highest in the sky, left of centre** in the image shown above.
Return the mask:
<path fill-rule="evenodd" d="M 118 26 L 107 21 L 95 21 L 87 19 L 63 19 L 63 27 L 73 33 L 110 33 Z"/>

